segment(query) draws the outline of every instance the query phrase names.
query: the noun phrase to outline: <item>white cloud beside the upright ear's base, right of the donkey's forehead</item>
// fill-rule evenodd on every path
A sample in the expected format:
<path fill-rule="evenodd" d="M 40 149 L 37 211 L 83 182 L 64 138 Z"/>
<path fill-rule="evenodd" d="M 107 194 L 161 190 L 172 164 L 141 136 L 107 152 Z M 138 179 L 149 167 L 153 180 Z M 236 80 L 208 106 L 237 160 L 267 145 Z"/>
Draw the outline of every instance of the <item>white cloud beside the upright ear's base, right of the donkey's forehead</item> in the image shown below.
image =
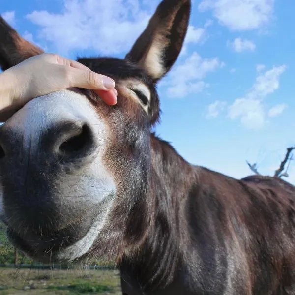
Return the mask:
<path fill-rule="evenodd" d="M 167 80 L 162 85 L 167 86 L 169 97 L 184 97 L 189 93 L 200 92 L 209 85 L 202 81 L 209 72 L 224 66 L 218 58 L 202 58 L 197 52 L 175 65 Z"/>

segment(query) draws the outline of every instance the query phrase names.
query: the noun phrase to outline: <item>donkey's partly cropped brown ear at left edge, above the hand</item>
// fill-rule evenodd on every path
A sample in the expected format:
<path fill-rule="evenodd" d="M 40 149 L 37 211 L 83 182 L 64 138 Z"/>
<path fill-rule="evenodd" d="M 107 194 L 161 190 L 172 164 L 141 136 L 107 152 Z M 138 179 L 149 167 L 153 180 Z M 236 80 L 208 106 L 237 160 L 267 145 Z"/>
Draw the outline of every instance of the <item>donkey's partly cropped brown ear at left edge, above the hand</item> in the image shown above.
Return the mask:
<path fill-rule="evenodd" d="M 3 71 L 43 52 L 42 49 L 23 39 L 0 16 L 0 66 Z"/>

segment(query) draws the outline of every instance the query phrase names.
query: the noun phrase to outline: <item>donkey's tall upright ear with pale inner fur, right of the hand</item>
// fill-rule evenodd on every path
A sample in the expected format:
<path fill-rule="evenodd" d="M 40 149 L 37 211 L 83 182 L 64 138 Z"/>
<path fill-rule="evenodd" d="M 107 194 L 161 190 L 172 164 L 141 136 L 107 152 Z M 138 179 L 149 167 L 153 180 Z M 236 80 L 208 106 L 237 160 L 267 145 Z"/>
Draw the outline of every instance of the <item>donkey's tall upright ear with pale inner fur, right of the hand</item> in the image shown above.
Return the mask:
<path fill-rule="evenodd" d="M 190 17 L 190 0 L 163 0 L 125 59 L 161 79 L 175 63 L 183 45 Z"/>

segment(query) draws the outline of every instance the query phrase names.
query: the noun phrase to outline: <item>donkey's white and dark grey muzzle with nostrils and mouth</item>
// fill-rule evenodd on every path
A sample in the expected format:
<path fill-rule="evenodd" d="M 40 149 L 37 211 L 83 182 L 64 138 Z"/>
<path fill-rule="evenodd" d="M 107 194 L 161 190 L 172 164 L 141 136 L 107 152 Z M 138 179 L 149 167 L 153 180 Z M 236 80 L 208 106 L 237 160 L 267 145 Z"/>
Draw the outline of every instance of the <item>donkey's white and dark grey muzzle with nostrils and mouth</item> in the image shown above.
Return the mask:
<path fill-rule="evenodd" d="M 103 163 L 109 137 L 103 120 L 84 95 L 60 90 L 31 100 L 0 129 L 9 240 L 44 263 L 86 255 L 116 194 Z"/>

